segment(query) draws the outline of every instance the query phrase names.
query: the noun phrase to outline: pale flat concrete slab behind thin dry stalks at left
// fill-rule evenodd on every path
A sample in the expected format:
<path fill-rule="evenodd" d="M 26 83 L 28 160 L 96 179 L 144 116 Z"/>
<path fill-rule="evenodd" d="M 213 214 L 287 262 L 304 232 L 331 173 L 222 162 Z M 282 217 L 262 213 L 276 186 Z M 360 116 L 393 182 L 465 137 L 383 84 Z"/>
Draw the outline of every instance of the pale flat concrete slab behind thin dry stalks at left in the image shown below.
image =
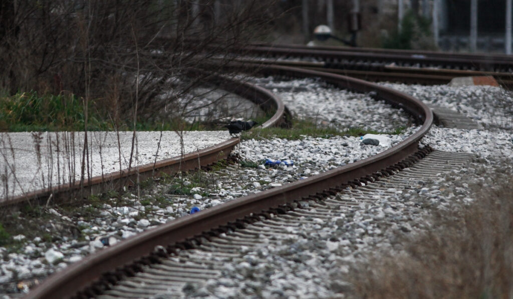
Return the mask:
<path fill-rule="evenodd" d="M 0 133 L 0 201 L 80 180 L 83 174 L 87 178 L 88 173 L 92 177 L 117 172 L 130 164 L 154 163 L 231 138 L 228 131 L 164 131 L 162 136 L 137 132 L 130 160 L 132 136 L 133 132 L 88 132 L 84 151 L 84 132 Z"/>

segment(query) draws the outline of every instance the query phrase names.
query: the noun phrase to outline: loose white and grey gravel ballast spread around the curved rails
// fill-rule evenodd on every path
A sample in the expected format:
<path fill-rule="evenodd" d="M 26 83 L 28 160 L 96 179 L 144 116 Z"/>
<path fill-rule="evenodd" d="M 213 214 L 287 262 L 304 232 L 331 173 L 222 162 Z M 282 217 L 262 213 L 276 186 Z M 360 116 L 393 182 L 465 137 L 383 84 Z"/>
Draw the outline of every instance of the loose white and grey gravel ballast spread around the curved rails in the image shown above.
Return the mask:
<path fill-rule="evenodd" d="M 323 91 L 322 88 L 315 87 L 310 90 L 309 86 L 317 83 L 308 80 L 273 82 L 273 84 L 283 84 L 281 87 L 284 89 L 287 87 L 286 84 L 294 88 L 302 88 L 299 93 L 279 92 L 297 117 L 319 115 L 319 119 L 322 119 L 320 124 L 323 124 L 324 121 L 330 126 L 340 128 L 349 123 L 365 124 L 368 129 L 381 132 L 397 129 L 397 126 L 406 127 L 402 134 L 388 135 L 392 140 L 392 145 L 417 130 L 417 127 L 410 125 L 407 116 L 398 114 L 397 110 L 372 99 L 364 100 L 364 102 L 372 102 L 372 104 L 368 104 L 372 106 L 354 105 L 354 107 L 362 107 L 362 110 L 354 108 L 354 110 L 349 109 L 344 112 L 340 108 L 339 113 L 346 114 L 343 117 L 338 117 L 335 113 L 329 114 L 327 111 L 333 111 L 337 109 L 334 107 L 338 106 L 352 106 L 344 105 L 346 102 L 343 102 L 342 96 L 334 98 L 337 93 L 336 89 Z M 404 91 L 408 92 L 406 89 L 407 87 L 404 87 Z M 449 90 L 450 96 L 446 96 L 447 93 L 443 95 L 441 90 Z M 489 88 L 483 90 L 497 92 L 497 90 Z M 345 91 L 341 93 L 348 94 Z M 394 235 L 398 233 L 415 233 L 416 230 L 427 227 L 423 221 L 429 209 L 423 203 L 430 203 L 432 208 L 449 208 L 452 203 L 458 204 L 471 200 L 472 194 L 468 193 L 465 184 L 480 181 L 483 173 L 509 167 L 506 161 L 512 156 L 511 133 L 492 126 L 492 113 L 496 110 L 486 107 L 483 109 L 472 108 L 473 104 L 471 103 L 479 103 L 483 93 L 477 91 L 469 93 L 466 88 L 415 86 L 415 94 L 412 94 L 419 98 L 431 98 L 441 106 L 459 107 L 461 112 L 471 111 L 475 114 L 470 113 L 469 116 L 480 122 L 483 127 L 490 128 L 489 130 L 458 130 L 434 126 L 422 141 L 423 144 L 439 150 L 475 153 L 479 164 L 473 164 L 472 167 L 459 170 L 450 176 L 441 177 L 439 182 L 426 184 L 425 188 L 427 189 L 422 194 L 403 192 L 394 196 L 386 196 L 376 204 L 361 205 L 353 208 L 350 212 L 344 212 L 345 216 L 339 219 L 302 227 L 301 237 L 297 237 L 298 234 L 291 231 L 290 238 L 280 246 L 263 246 L 252 251 L 242 252 L 241 258 L 252 259 L 250 265 L 266 266 L 262 269 L 251 268 L 252 272 L 248 272 L 247 267 L 227 264 L 226 275 L 233 282 L 232 284 L 221 285 L 219 282 L 212 281 L 203 287 L 198 286 L 197 290 L 201 289 L 202 292 L 207 290 L 208 294 L 213 297 L 224 298 L 230 295 L 246 297 L 248 294 L 251 296 L 251 293 L 248 293 L 251 290 L 248 284 L 252 284 L 255 286 L 253 289 L 258 289 L 264 297 L 338 296 L 339 292 L 347 289 L 343 274 L 347 272 L 345 269 L 349 269 L 348 263 L 356 261 L 365 256 L 364 253 L 376 248 L 396 246 L 397 244 L 394 244 L 393 240 Z M 294 99 L 291 99 L 292 95 Z M 328 100 L 326 102 L 318 100 L 319 95 Z M 360 101 L 356 95 L 350 94 L 349 97 L 350 101 Z M 313 99 L 315 102 L 308 105 L 308 99 Z M 314 109 L 309 109 L 309 107 L 315 107 L 318 111 L 312 112 Z M 390 109 L 390 112 L 386 112 L 387 109 Z M 396 111 L 396 113 L 392 113 L 392 111 Z M 324 118 L 321 118 L 321 115 L 324 115 Z M 391 115 L 391 117 L 387 115 Z M 394 115 L 396 117 L 393 117 Z M 385 124 L 388 121 L 396 123 L 394 125 Z M 0 252 L 4 256 L 4 261 L 0 265 L 2 273 L 0 283 L 2 283 L 3 291 L 18 291 L 19 286 L 16 284 L 20 281 L 30 281 L 29 278 L 34 275 L 44 277 L 56 269 L 66 267 L 69 263 L 79 261 L 83 256 L 104 247 L 100 241 L 102 237 L 113 236 L 113 240 L 122 240 L 157 224 L 179 216 L 187 216 L 187 212 L 192 206 L 205 209 L 251 192 L 280 186 L 302 177 L 352 163 L 386 149 L 386 147 L 360 145 L 360 143 L 361 141 L 357 137 L 349 136 L 306 137 L 301 141 L 288 141 L 279 138 L 267 141 L 249 140 L 241 143 L 236 150 L 242 160 L 260 161 L 264 158 L 274 158 L 293 160 L 294 165 L 275 168 L 243 168 L 239 165 L 232 165 L 213 172 L 210 177 L 210 187 L 196 189 L 193 193 L 197 193 L 189 196 L 166 194 L 164 191 L 168 187 L 164 185 L 154 187 L 150 193 L 164 196 L 164 200 L 167 201 L 166 207 L 156 204 L 143 205 L 142 198 L 131 195 L 127 197 L 127 201 L 131 202 L 131 205 L 121 207 L 105 205 L 98 209 L 97 217 L 93 221 L 78 220 L 77 222 L 77 219 L 66 220 L 65 217 L 59 216 L 58 218 L 63 219 L 64 223 L 67 221 L 78 223 L 85 240 L 77 241 L 65 236 L 54 242 L 44 242 L 41 237 L 27 240 L 23 235 L 17 236 L 22 244 L 18 252 L 8 252 L 5 248 L 0 248 Z M 459 177 L 458 180 L 451 179 L 455 175 Z M 183 180 L 187 180 L 187 177 L 184 176 Z M 486 180 L 483 182 L 487 185 L 493 183 Z M 441 192 L 440 189 L 445 191 Z M 432 197 L 424 196 L 425 194 L 437 194 L 438 198 L 432 202 Z M 393 213 L 385 212 L 392 206 Z M 61 213 L 54 209 L 49 212 L 56 215 Z M 380 216 L 376 217 L 376 215 Z M 362 233 L 362 229 L 364 233 Z M 359 236 L 365 242 L 358 243 L 359 246 L 356 247 L 344 245 L 343 240 L 349 240 L 355 236 Z M 297 245 L 293 247 L 291 243 Z M 338 249 L 331 250 L 334 247 Z M 293 256 L 299 256 L 300 262 L 294 262 Z M 268 278 L 264 279 L 265 275 L 262 274 L 269 271 L 274 273 L 270 281 Z M 253 274 L 248 275 L 247 273 Z M 255 294 L 253 293 L 254 296 L 256 296 Z"/>

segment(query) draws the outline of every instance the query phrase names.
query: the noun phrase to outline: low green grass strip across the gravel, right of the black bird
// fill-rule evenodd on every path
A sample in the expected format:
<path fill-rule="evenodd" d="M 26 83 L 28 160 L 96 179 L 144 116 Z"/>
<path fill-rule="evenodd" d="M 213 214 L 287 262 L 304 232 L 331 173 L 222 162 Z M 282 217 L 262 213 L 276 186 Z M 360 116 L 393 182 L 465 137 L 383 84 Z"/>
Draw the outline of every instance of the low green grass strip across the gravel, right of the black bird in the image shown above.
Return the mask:
<path fill-rule="evenodd" d="M 310 119 L 294 119 L 291 128 L 254 128 L 250 131 L 242 132 L 242 140 L 263 140 L 270 138 L 283 138 L 289 140 L 301 140 L 305 137 L 330 138 L 333 136 L 363 136 L 365 134 L 400 134 L 404 127 L 397 128 L 391 132 L 379 132 L 374 130 L 364 130 L 362 128 L 347 128 L 340 130 L 334 127 L 316 126 Z"/>

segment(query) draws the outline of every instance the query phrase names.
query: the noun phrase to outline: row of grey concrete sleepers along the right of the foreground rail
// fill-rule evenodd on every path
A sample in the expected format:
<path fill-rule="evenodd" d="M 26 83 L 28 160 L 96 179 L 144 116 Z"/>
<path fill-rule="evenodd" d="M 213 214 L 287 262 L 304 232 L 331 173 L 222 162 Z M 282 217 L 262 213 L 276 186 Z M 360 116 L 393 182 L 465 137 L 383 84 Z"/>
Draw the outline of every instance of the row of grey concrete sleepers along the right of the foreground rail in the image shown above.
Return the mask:
<path fill-rule="evenodd" d="M 226 263 L 244 261 L 247 252 L 289 240 L 293 227 L 322 223 L 351 207 L 372 203 L 381 195 L 391 194 L 391 189 L 421 189 L 430 180 L 438 180 L 445 173 L 466 167 L 473 158 L 472 154 L 433 150 L 417 163 L 392 175 L 369 180 L 364 186 L 347 188 L 336 195 L 327 194 L 321 200 L 322 204 L 304 199 L 293 211 L 260 216 L 259 221 L 249 223 L 243 229 L 230 230 L 212 236 L 210 240 L 205 238 L 194 249 L 180 250 L 161 258 L 160 264 L 144 266 L 143 272 L 125 277 L 98 298 L 145 298 L 159 294 L 166 298 L 179 297 L 184 288 L 222 278 Z"/>

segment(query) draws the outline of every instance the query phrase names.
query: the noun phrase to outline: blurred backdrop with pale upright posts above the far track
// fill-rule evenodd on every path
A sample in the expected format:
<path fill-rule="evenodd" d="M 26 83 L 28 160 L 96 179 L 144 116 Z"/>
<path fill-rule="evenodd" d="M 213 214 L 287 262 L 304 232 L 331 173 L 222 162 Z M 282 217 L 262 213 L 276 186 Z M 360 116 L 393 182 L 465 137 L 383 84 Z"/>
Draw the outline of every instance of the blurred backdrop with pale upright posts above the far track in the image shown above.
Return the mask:
<path fill-rule="evenodd" d="M 360 17 L 358 46 L 511 53 L 512 0 L 282 0 L 279 43 L 308 43 L 318 25 L 350 39 Z M 316 45 L 342 45 L 332 39 Z"/>

